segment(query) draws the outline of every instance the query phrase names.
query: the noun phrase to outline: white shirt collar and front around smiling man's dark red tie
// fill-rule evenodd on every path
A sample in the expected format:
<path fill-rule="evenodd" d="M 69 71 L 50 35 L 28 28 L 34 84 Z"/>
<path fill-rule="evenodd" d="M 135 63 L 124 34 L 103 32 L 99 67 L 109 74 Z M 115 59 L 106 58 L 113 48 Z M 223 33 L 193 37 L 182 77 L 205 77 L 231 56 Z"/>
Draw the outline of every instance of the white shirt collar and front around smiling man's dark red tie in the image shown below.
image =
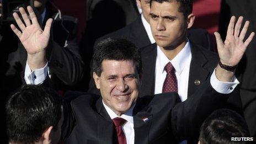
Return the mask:
<path fill-rule="evenodd" d="M 102 103 L 111 119 L 119 117 L 127 121 L 124 125 L 122 125 L 122 131 L 124 131 L 126 143 L 134 144 L 134 117 L 132 116 L 132 111 L 134 110 L 135 104 L 126 113 L 118 116 L 103 101 Z"/>

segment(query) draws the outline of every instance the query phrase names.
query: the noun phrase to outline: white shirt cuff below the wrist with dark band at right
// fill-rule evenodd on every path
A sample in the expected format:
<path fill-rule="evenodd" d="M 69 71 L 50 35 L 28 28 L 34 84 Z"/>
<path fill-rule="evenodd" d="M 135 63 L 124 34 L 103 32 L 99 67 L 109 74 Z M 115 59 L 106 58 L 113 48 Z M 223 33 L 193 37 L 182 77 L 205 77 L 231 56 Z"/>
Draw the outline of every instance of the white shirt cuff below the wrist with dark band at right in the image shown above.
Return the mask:
<path fill-rule="evenodd" d="M 233 92 L 234 88 L 236 88 L 237 84 L 239 84 L 237 78 L 233 76 L 232 82 L 221 82 L 217 79 L 215 75 L 216 68 L 214 72 L 211 74 L 210 83 L 212 88 L 214 88 L 218 93 L 229 94 Z"/>

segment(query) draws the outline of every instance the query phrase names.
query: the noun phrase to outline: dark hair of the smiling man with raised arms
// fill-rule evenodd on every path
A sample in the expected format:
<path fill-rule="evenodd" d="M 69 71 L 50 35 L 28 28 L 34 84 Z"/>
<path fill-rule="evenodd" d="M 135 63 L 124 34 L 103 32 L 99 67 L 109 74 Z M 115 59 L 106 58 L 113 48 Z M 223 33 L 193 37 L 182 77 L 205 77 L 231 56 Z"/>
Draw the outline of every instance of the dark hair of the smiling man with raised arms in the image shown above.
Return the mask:
<path fill-rule="evenodd" d="M 102 62 L 104 60 L 133 61 L 138 74 L 141 74 L 141 53 L 128 40 L 108 38 L 100 41 L 93 55 L 93 72 L 98 76 L 102 73 Z"/>

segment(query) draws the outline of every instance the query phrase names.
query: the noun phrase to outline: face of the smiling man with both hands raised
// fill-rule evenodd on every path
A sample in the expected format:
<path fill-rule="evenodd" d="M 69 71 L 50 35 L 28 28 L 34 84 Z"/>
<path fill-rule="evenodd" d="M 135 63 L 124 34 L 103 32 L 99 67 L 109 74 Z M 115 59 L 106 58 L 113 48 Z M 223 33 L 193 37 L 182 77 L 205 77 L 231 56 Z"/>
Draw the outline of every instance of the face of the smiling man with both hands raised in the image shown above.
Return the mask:
<path fill-rule="evenodd" d="M 93 78 L 103 102 L 117 115 L 135 104 L 140 78 L 133 61 L 103 60 L 100 77 L 94 72 Z"/>

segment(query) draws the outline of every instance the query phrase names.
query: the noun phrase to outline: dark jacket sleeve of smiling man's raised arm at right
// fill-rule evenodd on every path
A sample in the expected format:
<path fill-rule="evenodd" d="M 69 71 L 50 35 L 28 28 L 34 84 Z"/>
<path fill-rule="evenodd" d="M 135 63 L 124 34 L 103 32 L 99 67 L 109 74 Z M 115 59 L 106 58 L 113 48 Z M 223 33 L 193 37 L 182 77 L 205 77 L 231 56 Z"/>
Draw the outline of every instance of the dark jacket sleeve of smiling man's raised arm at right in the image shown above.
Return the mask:
<path fill-rule="evenodd" d="M 221 94 L 211 87 L 210 78 L 202 87 L 172 110 L 172 130 L 179 140 L 198 141 L 200 126 L 212 111 L 222 108 L 230 94 Z"/>

